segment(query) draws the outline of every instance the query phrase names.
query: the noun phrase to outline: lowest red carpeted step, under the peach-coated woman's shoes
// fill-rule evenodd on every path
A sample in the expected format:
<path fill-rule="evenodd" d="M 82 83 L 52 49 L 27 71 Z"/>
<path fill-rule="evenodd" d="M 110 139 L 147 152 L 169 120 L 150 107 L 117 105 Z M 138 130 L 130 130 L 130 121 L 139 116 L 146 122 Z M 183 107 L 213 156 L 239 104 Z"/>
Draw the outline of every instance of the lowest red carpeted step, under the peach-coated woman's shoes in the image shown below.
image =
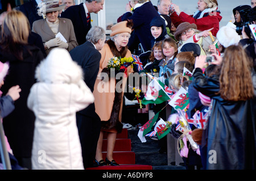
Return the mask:
<path fill-rule="evenodd" d="M 119 165 L 119 166 L 98 166 L 86 170 L 152 170 L 151 165 Z"/>

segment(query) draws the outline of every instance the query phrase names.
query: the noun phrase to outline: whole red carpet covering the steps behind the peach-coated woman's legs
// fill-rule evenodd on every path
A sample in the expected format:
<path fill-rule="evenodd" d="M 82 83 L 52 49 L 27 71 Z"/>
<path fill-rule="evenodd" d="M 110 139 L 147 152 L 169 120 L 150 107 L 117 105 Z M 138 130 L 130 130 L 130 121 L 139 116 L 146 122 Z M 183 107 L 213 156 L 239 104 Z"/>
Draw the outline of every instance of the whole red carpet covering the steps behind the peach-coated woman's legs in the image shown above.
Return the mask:
<path fill-rule="evenodd" d="M 106 134 L 104 134 L 103 138 L 102 154 L 103 158 L 105 159 L 106 148 L 108 146 Z M 88 168 L 86 170 L 152 170 L 151 165 L 136 165 L 135 153 L 134 151 L 131 151 L 131 140 L 128 138 L 127 129 L 123 129 L 121 133 L 117 134 L 113 157 L 119 166 L 98 166 Z"/>

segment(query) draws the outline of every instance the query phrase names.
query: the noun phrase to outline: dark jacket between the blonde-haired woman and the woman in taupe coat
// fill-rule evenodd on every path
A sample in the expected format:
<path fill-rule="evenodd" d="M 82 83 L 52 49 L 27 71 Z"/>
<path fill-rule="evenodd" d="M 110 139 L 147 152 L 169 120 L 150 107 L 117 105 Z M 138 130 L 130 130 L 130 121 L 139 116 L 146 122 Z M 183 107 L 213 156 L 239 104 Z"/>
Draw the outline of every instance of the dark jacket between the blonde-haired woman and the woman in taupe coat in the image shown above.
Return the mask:
<path fill-rule="evenodd" d="M 38 15 L 38 11 L 36 10 L 36 7 L 38 6 L 38 3 L 36 3 L 35 0 L 31 0 L 30 2 L 24 3 L 19 7 L 19 10 L 24 13 L 24 15 L 27 16 L 28 21 L 30 22 L 30 27 L 32 30 L 32 24 L 35 22 L 35 20 L 43 19 L 42 16 Z"/>

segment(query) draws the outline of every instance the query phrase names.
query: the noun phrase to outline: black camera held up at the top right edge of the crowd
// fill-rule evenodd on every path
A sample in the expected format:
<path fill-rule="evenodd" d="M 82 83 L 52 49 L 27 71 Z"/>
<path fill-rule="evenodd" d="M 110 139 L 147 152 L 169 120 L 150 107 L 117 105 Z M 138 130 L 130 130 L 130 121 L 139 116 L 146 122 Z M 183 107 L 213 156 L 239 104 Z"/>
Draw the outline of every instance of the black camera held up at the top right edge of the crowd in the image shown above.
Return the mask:
<path fill-rule="evenodd" d="M 240 11 L 242 24 L 240 26 L 237 26 L 236 28 L 236 32 L 238 33 L 238 35 L 242 35 L 243 27 L 245 27 L 246 35 L 251 37 L 251 30 L 249 27 L 249 25 L 251 24 L 250 13 L 251 13 L 251 8 L 243 9 Z"/>

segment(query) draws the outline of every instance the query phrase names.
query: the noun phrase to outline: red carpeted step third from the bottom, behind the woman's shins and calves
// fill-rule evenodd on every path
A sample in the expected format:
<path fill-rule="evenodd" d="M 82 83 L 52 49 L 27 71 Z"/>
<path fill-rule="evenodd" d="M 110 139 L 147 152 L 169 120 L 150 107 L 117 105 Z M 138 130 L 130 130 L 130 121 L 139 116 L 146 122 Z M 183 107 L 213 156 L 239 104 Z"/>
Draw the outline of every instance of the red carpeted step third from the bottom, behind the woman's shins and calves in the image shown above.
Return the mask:
<path fill-rule="evenodd" d="M 108 140 L 104 139 L 102 142 L 102 151 L 107 151 Z M 131 151 L 131 140 L 127 138 L 116 139 L 114 151 Z"/>

